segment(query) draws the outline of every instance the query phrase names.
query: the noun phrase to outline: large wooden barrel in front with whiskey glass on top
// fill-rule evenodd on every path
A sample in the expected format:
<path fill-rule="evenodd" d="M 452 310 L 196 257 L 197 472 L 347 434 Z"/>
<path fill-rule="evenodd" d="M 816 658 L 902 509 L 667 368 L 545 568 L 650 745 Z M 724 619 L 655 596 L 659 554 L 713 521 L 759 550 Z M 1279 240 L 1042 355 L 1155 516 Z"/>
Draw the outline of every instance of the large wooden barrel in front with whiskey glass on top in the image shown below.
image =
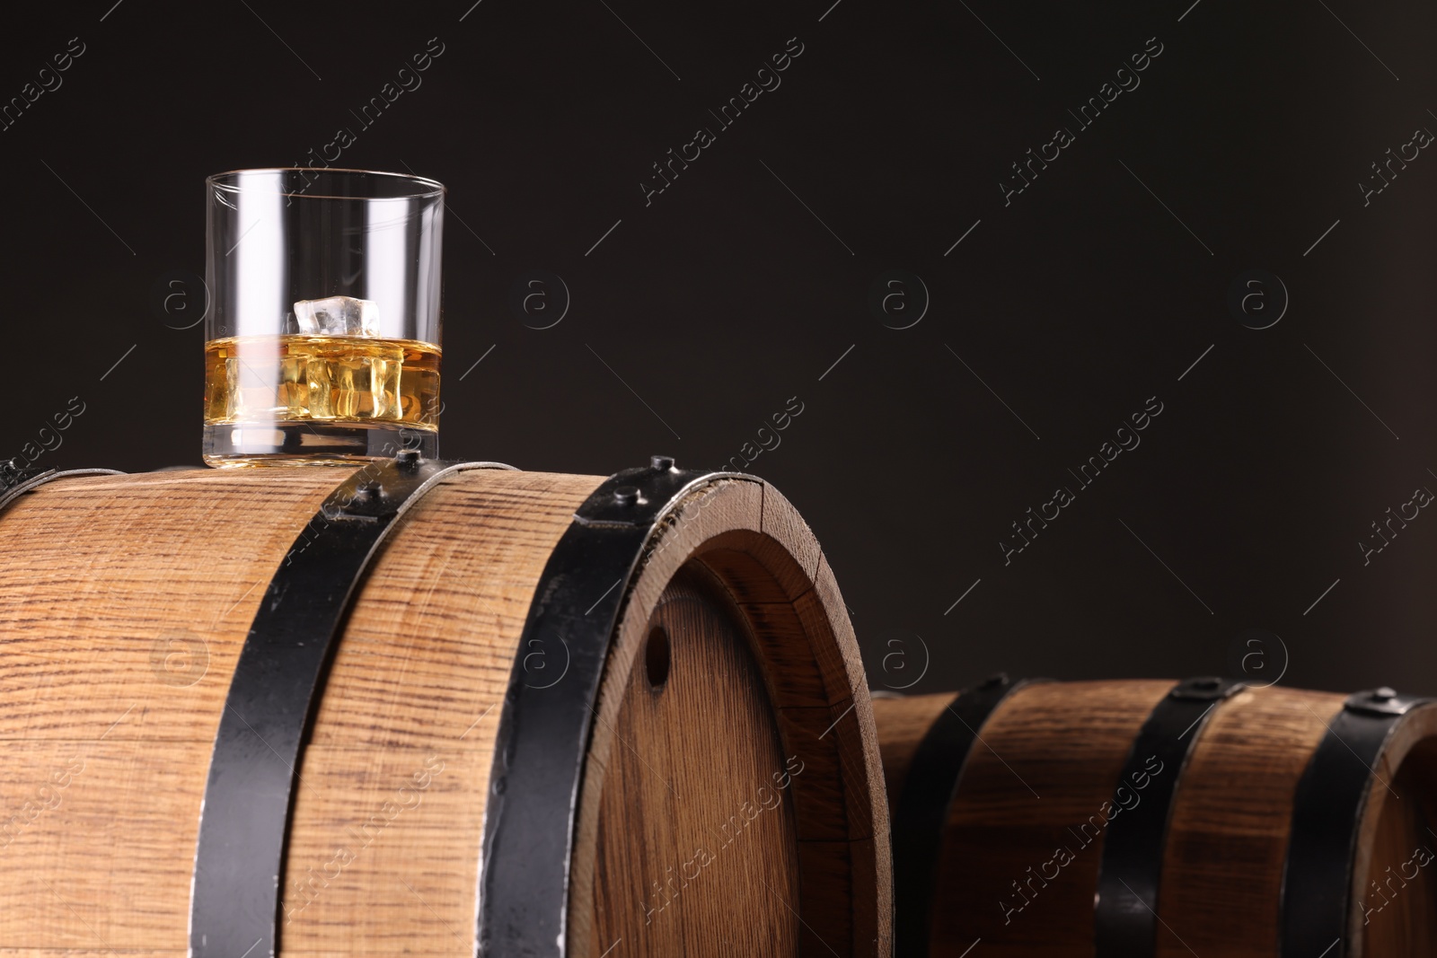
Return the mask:
<path fill-rule="evenodd" d="M 858 649 L 760 480 L 410 455 L 0 506 L 6 958 L 888 954 Z"/>

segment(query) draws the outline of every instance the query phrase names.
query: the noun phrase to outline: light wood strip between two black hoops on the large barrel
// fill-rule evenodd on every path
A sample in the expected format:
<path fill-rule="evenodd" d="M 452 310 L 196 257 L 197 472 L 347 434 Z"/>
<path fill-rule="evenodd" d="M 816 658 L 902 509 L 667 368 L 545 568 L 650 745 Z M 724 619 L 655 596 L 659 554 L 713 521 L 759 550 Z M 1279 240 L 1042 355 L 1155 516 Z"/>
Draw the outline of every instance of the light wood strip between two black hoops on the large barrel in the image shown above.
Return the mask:
<path fill-rule="evenodd" d="M 543 566 L 598 483 L 460 473 L 405 516 L 355 603 L 299 770 L 285 954 L 473 952 L 499 702 Z"/>

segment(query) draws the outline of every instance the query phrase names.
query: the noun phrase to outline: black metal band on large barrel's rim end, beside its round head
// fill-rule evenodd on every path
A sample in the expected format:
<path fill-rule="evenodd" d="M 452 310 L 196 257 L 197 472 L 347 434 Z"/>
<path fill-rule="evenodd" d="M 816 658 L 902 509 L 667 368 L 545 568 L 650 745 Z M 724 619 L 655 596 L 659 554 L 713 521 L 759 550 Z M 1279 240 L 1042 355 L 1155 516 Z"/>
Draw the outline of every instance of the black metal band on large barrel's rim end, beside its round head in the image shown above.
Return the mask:
<path fill-rule="evenodd" d="M 599 485 L 555 546 L 519 648 L 563 649 L 568 671 L 539 682 L 514 658 L 484 809 L 481 958 L 568 952 L 569 865 L 611 636 L 655 526 L 690 490 L 727 475 L 655 455 Z"/>

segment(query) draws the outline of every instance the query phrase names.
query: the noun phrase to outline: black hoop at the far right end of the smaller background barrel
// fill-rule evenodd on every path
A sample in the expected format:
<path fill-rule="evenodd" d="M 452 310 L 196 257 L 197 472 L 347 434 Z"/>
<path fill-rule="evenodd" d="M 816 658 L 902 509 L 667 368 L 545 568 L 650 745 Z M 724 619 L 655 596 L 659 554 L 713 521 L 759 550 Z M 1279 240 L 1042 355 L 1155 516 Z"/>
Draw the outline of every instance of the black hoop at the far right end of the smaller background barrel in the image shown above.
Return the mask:
<path fill-rule="evenodd" d="M 1352 859 L 1372 770 L 1403 715 L 1437 699 L 1390 688 L 1358 692 L 1298 781 L 1282 876 L 1282 958 L 1349 954 Z"/>

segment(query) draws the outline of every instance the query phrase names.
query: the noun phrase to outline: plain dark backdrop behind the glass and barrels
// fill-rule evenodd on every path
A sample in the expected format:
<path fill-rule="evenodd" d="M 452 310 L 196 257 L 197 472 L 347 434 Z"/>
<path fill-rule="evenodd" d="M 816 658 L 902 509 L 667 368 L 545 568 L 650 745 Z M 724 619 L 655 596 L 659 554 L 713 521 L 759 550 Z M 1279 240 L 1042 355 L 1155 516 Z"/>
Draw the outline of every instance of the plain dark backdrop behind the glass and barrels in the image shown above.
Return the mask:
<path fill-rule="evenodd" d="M 1255 678 L 1437 692 L 1437 516 L 1358 544 L 1437 490 L 1437 151 L 1358 187 L 1437 131 L 1431 3 L 471 1 L 6 11 L 0 101 L 85 52 L 0 132 L 0 452 L 78 395 L 36 465 L 197 464 L 203 325 L 175 327 L 203 289 L 160 302 L 204 271 L 204 177 L 349 128 L 333 165 L 450 191 L 445 457 L 718 468 L 796 396 L 749 471 L 822 540 L 875 688 L 1257 652 Z M 351 111 L 431 37 L 365 129 Z M 718 131 L 790 37 L 782 86 Z M 1148 37 L 1141 86 L 1079 129 Z M 1076 141 L 1004 205 L 1059 125 Z M 645 205 L 698 126 L 717 142 Z M 510 306 L 530 270 L 570 296 L 549 329 Z M 908 329 L 911 280 L 869 304 L 888 270 L 927 289 Z M 1229 307 L 1249 270 L 1290 296 L 1272 327 Z M 1141 445 L 1079 488 L 1150 396 Z M 1004 564 L 1058 485 L 1076 500 Z"/>

